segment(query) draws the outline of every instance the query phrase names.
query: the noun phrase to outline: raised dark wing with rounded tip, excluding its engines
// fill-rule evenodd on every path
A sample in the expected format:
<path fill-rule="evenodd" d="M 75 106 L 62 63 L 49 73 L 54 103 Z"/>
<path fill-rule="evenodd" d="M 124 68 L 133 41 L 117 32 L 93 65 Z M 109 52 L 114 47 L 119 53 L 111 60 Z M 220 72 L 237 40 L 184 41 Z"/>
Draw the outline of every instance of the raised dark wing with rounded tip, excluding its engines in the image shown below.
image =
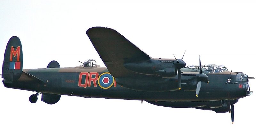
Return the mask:
<path fill-rule="evenodd" d="M 123 35 L 104 27 L 89 28 L 86 34 L 112 76 L 134 77 L 142 75 L 126 69 L 124 63 L 145 61 L 151 57 Z"/>

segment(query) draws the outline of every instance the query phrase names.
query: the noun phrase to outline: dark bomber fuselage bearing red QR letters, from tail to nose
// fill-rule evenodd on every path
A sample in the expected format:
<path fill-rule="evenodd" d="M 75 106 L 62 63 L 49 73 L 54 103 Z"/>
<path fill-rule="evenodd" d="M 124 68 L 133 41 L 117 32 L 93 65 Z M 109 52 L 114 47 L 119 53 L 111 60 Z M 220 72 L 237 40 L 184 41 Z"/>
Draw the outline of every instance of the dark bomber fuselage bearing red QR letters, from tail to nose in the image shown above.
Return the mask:
<path fill-rule="evenodd" d="M 98 70 L 95 72 L 95 70 Z M 209 83 L 202 83 L 200 96 L 195 96 L 195 89 L 190 85 L 182 85 L 176 91 L 137 91 L 120 86 L 115 78 L 108 73 L 107 68 L 98 67 L 92 70 L 80 68 L 47 68 L 23 70 L 39 79 L 42 83 L 24 83 L 4 81 L 4 86 L 29 91 L 44 92 L 59 95 L 97 97 L 108 99 L 149 100 L 149 101 L 212 101 L 232 100 L 245 97 L 247 81 L 237 81 L 236 73 L 225 72 L 207 74 Z M 90 72 L 93 71 L 93 72 Z M 183 72 L 186 73 L 186 72 Z M 182 76 L 182 83 L 193 83 L 194 76 Z M 227 80 L 231 78 L 231 81 Z M 167 85 L 178 87 L 177 77 L 161 78 L 163 83 L 156 86 Z M 146 80 L 144 80 L 146 81 Z M 135 82 L 135 81 L 134 81 Z M 143 81 L 142 81 L 143 82 Z M 165 83 L 165 84 L 164 84 Z M 143 83 L 140 83 L 143 84 Z M 195 87 L 196 88 L 196 87 Z M 191 90 L 190 90 L 191 89 Z M 157 89 L 156 89 L 157 90 Z"/>

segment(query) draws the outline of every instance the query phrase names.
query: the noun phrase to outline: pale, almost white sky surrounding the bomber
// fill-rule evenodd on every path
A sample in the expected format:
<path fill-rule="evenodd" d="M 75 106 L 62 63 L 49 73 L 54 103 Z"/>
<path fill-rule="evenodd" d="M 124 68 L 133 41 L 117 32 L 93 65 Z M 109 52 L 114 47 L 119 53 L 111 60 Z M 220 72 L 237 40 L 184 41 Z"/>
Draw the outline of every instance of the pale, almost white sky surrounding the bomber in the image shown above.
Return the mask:
<path fill-rule="evenodd" d="M 86 35 L 94 26 L 115 29 L 154 58 L 182 57 L 187 65 L 223 64 L 230 71 L 255 73 L 254 1 L 14 1 L 0 2 L 0 56 L 18 36 L 23 68 L 60 67 L 95 59 L 105 67 Z M 157 46 L 157 47 L 156 47 Z M 154 48 L 153 48 L 154 47 Z M 2 64 L 0 65 L 2 68 Z M 255 80 L 250 82 L 255 89 Z M 235 122 L 229 113 L 166 108 L 140 101 L 61 96 L 48 105 L 41 95 L 0 85 L 0 133 L 252 133 L 255 94 L 239 99 Z"/>

